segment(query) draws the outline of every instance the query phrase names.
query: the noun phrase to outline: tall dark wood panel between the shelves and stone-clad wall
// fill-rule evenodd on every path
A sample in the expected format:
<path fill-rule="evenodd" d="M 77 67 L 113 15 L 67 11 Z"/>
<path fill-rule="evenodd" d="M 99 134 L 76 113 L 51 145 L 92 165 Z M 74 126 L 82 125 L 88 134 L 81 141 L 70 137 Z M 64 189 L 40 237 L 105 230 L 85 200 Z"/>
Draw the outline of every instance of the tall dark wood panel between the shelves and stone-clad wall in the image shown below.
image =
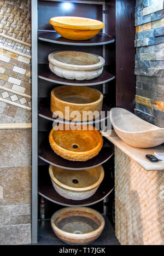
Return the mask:
<path fill-rule="evenodd" d="M 136 79 L 134 75 L 136 1 L 116 0 L 116 106 L 134 111 Z"/>

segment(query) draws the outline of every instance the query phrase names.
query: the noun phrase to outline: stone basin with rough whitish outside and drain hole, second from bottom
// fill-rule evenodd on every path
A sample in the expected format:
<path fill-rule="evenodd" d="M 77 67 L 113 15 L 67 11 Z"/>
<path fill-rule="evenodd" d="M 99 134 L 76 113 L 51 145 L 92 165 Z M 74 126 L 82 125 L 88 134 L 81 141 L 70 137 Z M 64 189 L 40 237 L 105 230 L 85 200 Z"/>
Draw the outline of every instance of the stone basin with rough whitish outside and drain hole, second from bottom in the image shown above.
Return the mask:
<path fill-rule="evenodd" d="M 94 195 L 104 178 L 104 169 L 98 166 L 87 170 L 66 170 L 50 165 L 52 185 L 61 196 L 85 200 Z"/>

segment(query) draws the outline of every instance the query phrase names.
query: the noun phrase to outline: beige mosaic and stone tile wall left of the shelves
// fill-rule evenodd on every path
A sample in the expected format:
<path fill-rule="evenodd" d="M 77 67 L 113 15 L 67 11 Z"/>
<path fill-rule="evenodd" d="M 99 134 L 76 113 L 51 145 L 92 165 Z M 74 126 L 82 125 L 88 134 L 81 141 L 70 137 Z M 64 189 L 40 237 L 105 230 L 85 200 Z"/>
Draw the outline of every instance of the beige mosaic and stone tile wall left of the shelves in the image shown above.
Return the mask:
<path fill-rule="evenodd" d="M 31 243 L 30 0 L 0 0 L 0 245 Z"/>

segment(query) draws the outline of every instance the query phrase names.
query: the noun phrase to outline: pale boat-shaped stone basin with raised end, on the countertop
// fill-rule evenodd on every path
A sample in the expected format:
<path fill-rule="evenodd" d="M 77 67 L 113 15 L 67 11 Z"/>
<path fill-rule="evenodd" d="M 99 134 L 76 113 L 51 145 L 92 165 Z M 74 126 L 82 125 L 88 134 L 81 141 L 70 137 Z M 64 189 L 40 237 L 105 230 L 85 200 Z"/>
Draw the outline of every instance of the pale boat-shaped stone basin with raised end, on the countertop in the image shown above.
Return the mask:
<path fill-rule="evenodd" d="M 122 141 L 136 148 L 151 148 L 164 143 L 164 129 L 140 119 L 123 108 L 113 108 L 110 120 Z"/>

